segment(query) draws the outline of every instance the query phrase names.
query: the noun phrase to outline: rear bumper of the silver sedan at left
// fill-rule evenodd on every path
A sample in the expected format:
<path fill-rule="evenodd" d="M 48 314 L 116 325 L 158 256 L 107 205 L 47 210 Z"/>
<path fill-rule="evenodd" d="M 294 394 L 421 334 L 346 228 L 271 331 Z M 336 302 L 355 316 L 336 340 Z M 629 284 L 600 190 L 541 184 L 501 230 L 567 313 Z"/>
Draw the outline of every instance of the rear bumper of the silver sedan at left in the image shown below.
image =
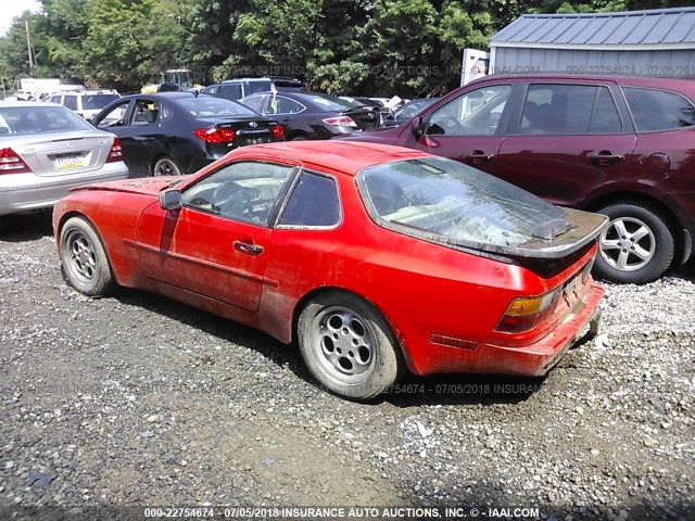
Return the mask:
<path fill-rule="evenodd" d="M 124 163 L 106 163 L 99 170 L 65 177 L 36 174 L 0 176 L 0 215 L 48 208 L 67 195 L 71 188 L 127 178 L 128 168 Z"/>

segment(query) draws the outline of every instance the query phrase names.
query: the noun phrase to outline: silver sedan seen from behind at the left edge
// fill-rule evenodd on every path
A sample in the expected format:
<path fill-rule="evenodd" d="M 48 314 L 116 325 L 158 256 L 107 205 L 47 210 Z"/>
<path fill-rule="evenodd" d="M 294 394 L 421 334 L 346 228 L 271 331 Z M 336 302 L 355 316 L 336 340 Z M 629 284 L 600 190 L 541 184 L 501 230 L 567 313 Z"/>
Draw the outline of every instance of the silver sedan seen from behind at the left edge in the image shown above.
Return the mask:
<path fill-rule="evenodd" d="M 73 187 L 127 177 L 113 134 L 54 103 L 0 102 L 0 215 L 50 207 Z"/>

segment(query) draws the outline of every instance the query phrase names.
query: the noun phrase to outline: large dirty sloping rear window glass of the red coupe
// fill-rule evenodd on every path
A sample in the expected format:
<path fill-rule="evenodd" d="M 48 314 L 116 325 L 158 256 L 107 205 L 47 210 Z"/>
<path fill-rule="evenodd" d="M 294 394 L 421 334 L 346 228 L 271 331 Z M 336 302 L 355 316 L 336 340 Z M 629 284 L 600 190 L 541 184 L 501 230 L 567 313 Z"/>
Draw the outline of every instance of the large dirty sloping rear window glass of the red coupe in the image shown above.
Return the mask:
<path fill-rule="evenodd" d="M 395 161 L 362 170 L 357 182 L 378 224 L 465 246 L 516 246 L 565 211 L 514 185 L 443 157 Z"/>

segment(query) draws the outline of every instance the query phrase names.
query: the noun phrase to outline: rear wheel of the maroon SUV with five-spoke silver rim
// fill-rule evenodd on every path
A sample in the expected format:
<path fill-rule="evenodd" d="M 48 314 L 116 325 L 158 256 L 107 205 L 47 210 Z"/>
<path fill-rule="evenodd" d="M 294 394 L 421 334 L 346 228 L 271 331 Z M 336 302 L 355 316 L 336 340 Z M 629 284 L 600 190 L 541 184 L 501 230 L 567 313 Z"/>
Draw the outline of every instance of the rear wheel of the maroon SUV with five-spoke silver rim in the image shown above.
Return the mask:
<path fill-rule="evenodd" d="M 610 282 L 644 284 L 671 265 L 675 242 L 666 220 L 649 205 L 617 203 L 596 211 L 608 216 L 598 238 L 594 274 Z"/>

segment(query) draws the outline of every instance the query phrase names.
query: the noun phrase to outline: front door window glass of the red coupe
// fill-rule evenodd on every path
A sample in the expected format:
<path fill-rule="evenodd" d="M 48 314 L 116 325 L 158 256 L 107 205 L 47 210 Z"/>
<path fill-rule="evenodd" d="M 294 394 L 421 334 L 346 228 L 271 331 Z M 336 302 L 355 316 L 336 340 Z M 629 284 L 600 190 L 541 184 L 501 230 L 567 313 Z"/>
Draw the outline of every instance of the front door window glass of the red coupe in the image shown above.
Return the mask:
<path fill-rule="evenodd" d="M 186 189 L 181 203 L 229 219 L 267 226 L 293 169 L 275 163 L 231 163 Z"/>

